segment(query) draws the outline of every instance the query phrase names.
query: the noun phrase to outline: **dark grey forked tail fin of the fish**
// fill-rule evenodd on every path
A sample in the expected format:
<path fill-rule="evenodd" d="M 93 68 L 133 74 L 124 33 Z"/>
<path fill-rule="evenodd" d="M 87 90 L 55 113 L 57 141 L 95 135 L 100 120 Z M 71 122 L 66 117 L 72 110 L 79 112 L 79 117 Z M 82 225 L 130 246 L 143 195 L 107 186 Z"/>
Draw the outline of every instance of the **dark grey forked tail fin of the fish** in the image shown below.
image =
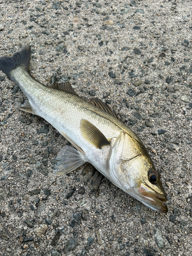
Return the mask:
<path fill-rule="evenodd" d="M 2 70 L 9 78 L 11 78 L 11 71 L 18 66 L 22 66 L 24 69 L 28 70 L 30 57 L 31 46 L 27 45 L 20 49 L 20 51 L 15 53 L 12 57 L 1 57 L 0 70 Z"/>

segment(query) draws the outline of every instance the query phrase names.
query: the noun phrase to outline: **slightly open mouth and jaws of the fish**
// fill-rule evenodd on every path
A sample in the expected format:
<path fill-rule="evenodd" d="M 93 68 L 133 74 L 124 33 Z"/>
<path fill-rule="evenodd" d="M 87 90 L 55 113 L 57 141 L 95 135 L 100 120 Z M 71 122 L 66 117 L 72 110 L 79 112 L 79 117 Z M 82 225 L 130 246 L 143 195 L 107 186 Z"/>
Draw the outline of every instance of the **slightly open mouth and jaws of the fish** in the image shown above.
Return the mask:
<path fill-rule="evenodd" d="M 145 182 L 142 183 L 139 188 L 139 194 L 144 199 L 143 204 L 154 210 L 166 213 L 168 211 L 168 208 L 164 204 L 164 202 L 167 201 L 167 196 L 164 191 L 162 193 L 163 194 L 157 193 L 152 187 L 150 187 Z"/>

